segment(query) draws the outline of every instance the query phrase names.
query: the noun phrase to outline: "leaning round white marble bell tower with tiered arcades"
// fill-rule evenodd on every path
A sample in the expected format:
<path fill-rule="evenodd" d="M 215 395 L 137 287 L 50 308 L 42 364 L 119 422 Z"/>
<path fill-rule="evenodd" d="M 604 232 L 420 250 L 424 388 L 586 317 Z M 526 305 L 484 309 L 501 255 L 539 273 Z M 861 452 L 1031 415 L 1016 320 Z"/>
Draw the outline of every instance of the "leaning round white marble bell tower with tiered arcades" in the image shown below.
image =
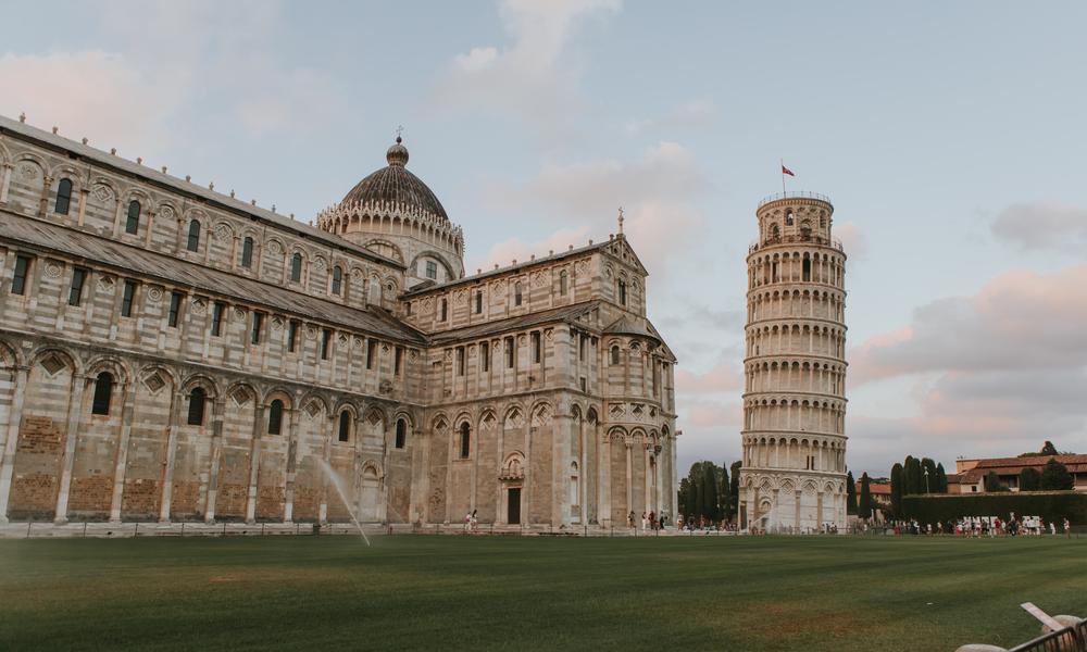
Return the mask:
<path fill-rule="evenodd" d="M 764 199 L 748 251 L 740 525 L 846 526 L 846 254 L 830 200 Z"/>

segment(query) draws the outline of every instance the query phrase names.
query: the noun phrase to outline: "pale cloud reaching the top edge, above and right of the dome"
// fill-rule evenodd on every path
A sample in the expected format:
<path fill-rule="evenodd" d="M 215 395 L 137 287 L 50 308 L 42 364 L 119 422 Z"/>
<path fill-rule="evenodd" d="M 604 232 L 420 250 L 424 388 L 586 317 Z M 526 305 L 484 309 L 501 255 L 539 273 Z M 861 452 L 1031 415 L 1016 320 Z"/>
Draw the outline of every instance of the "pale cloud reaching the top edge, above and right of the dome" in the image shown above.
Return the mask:
<path fill-rule="evenodd" d="M 526 120 L 553 131 L 583 105 L 578 66 L 563 54 L 577 27 L 617 13 L 621 0 L 505 0 L 508 47 L 477 46 L 452 59 L 432 105 Z"/>

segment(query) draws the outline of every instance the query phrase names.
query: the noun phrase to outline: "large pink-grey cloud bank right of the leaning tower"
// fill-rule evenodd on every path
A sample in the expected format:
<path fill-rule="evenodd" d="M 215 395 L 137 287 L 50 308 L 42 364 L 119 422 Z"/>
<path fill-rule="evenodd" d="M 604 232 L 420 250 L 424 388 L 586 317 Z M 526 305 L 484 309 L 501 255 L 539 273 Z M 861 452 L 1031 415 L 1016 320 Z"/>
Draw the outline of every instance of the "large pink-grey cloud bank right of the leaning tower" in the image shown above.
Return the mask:
<path fill-rule="evenodd" d="M 940 299 L 911 323 L 851 350 L 855 412 L 876 381 L 912 383 L 909 416 L 850 413 L 850 464 L 923 454 L 1015 455 L 1044 440 L 1087 442 L 1087 264 L 1049 274 L 1010 272 L 972 297 Z M 859 396 L 860 394 L 860 396 Z M 875 396 L 875 394 L 872 394 Z"/>

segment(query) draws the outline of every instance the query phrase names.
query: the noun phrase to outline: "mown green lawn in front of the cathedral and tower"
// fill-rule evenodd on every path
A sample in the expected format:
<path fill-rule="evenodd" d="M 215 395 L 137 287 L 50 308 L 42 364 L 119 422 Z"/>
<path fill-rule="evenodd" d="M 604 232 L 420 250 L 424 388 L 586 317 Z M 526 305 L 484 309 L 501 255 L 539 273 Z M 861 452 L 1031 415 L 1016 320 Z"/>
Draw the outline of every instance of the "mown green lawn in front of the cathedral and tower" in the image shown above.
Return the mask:
<path fill-rule="evenodd" d="M 954 650 L 1087 615 L 1087 538 L 0 541 L 0 649 Z"/>

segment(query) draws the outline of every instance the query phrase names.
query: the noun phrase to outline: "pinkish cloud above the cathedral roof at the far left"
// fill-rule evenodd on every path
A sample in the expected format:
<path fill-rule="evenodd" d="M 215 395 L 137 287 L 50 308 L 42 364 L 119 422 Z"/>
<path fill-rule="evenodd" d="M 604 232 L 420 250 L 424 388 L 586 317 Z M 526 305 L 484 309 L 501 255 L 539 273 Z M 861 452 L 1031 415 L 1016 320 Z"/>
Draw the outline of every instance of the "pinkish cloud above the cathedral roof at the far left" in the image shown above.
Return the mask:
<path fill-rule="evenodd" d="M 99 50 L 0 57 L 0 113 L 18 115 L 68 138 L 84 136 L 132 158 L 163 145 L 177 93 L 157 85 L 121 54 Z M 78 98 L 72 101 L 71 98 Z M 142 148 L 142 149 L 137 149 Z"/>

